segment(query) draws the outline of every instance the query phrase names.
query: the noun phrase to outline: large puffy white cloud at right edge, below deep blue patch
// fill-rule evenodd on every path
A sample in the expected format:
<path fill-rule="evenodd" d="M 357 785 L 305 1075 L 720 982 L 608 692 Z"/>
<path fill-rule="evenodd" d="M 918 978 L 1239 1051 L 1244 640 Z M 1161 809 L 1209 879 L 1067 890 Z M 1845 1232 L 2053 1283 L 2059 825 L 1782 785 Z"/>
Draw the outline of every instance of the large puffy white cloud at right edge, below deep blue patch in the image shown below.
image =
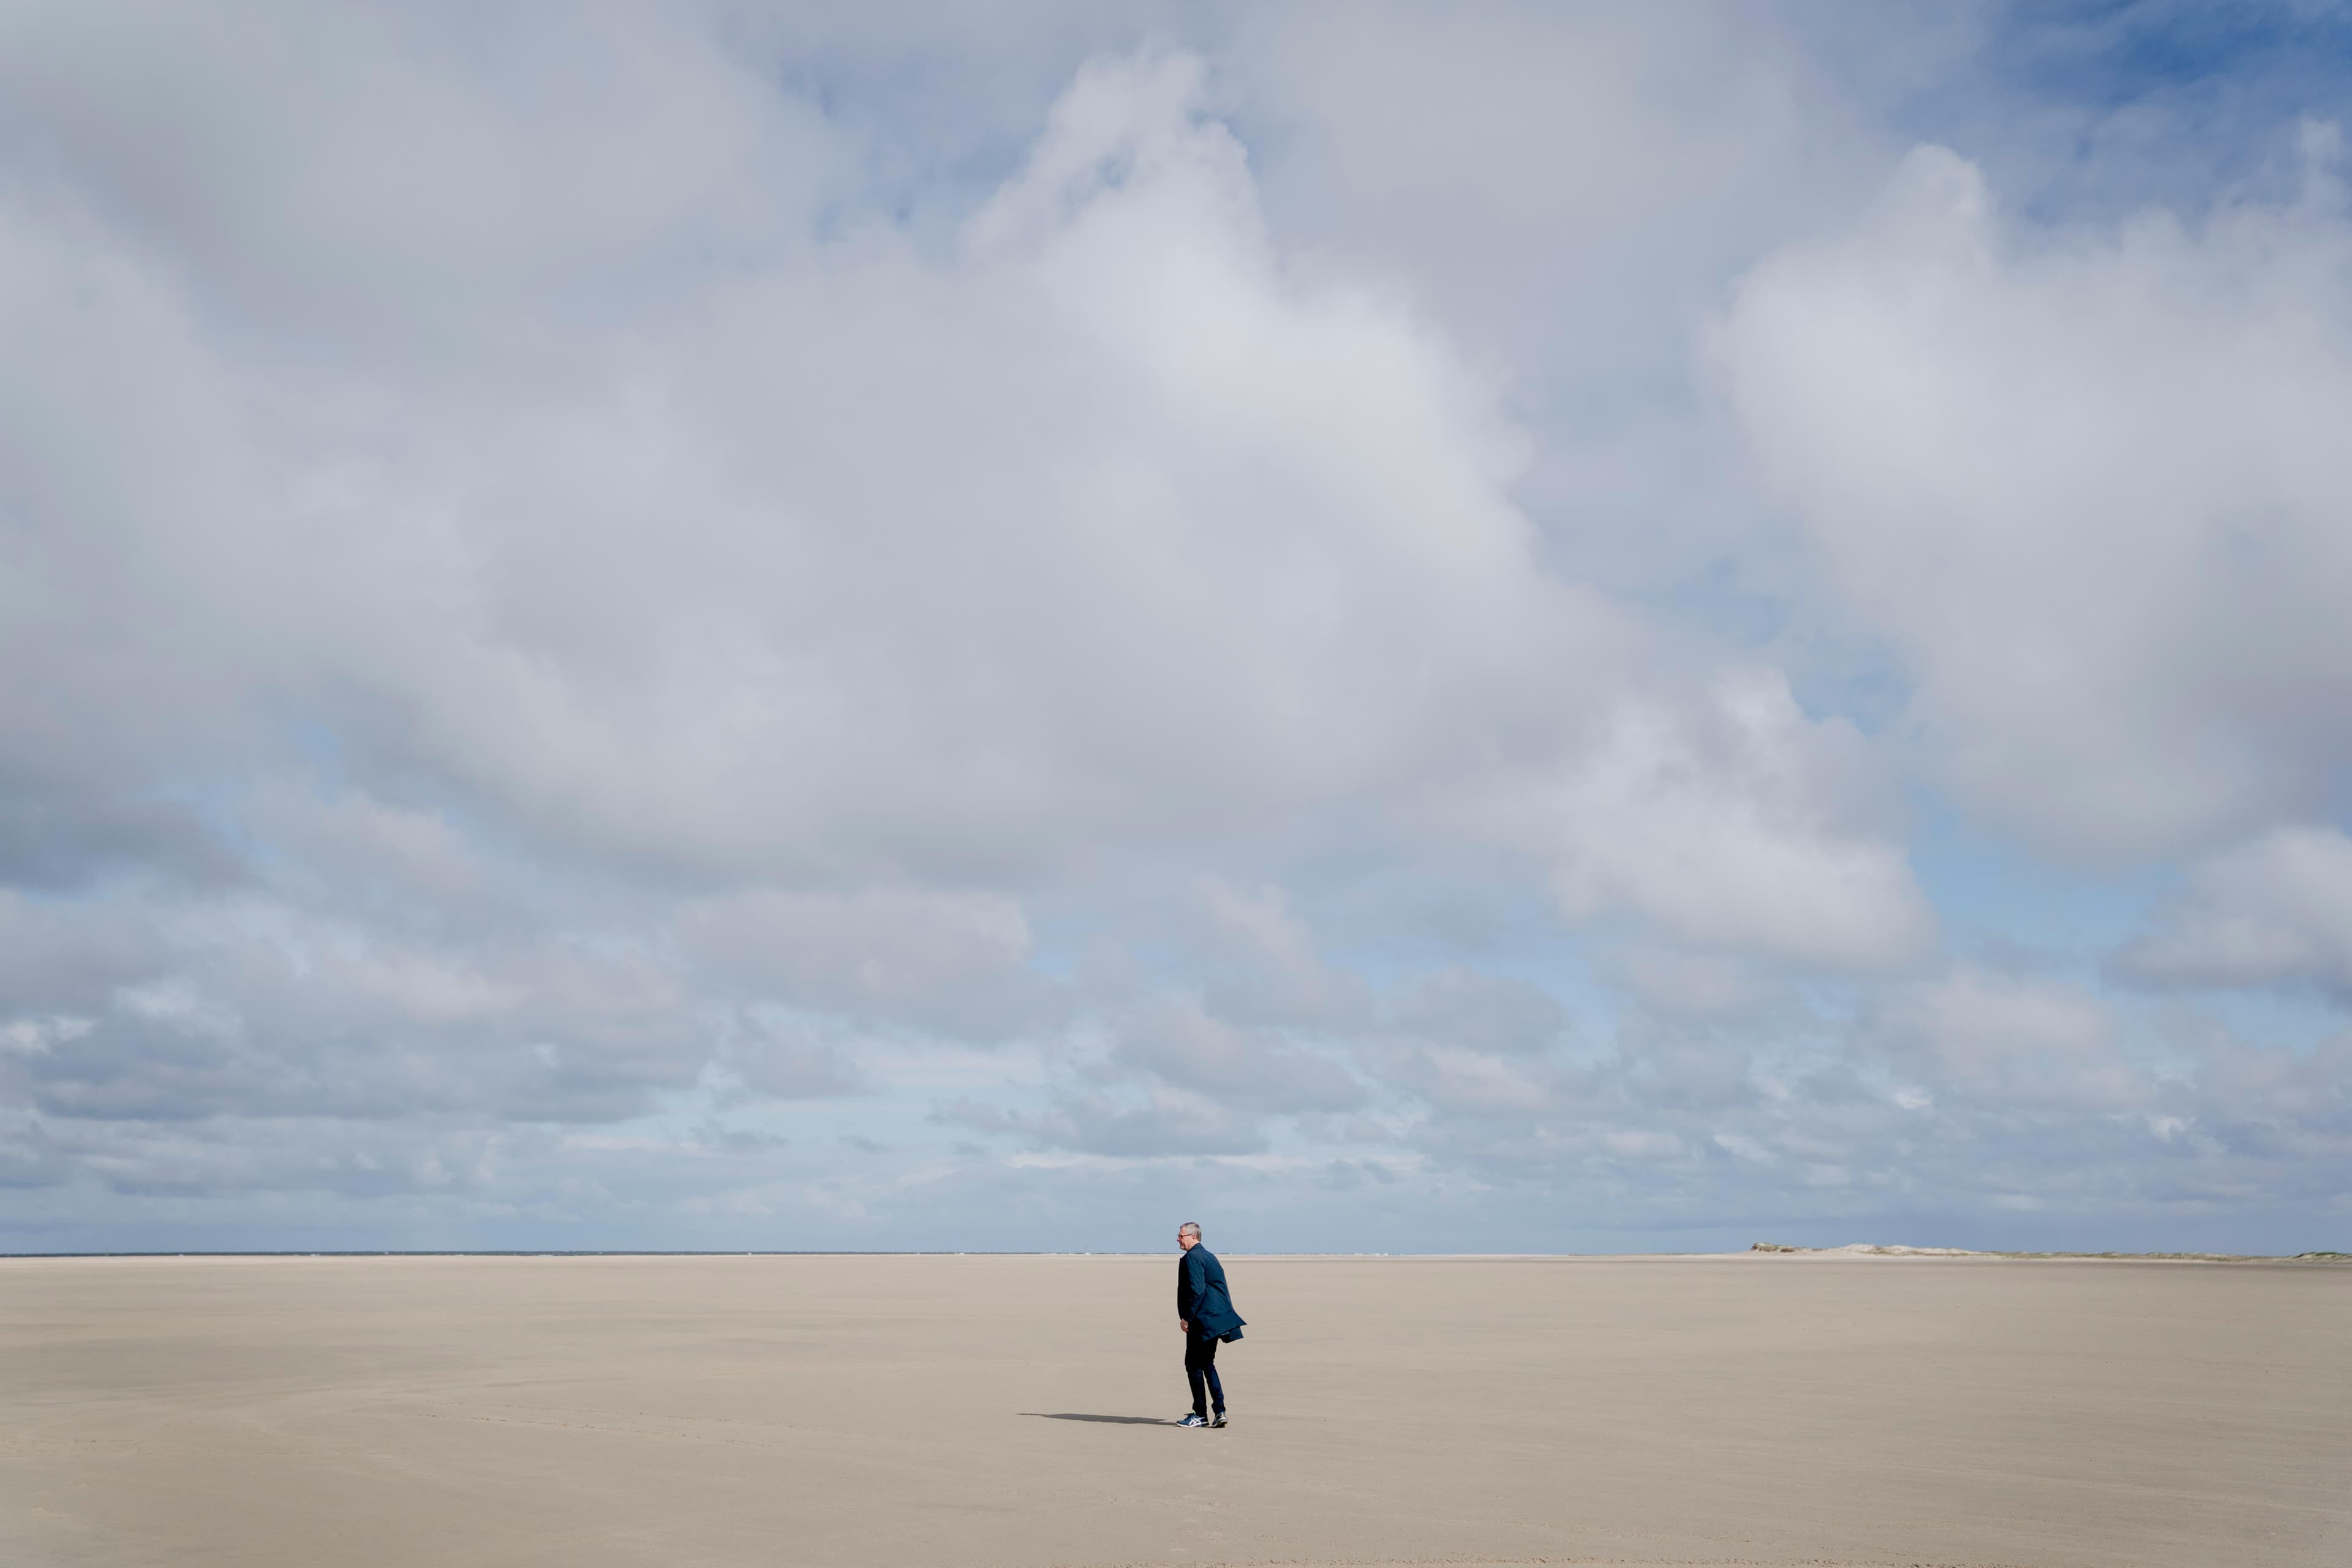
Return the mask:
<path fill-rule="evenodd" d="M 1724 386 L 1933 776 L 2060 856 L 2164 856 L 2352 783 L 2352 226 L 2006 216 L 1919 148 L 1875 216 L 1757 266 Z"/>

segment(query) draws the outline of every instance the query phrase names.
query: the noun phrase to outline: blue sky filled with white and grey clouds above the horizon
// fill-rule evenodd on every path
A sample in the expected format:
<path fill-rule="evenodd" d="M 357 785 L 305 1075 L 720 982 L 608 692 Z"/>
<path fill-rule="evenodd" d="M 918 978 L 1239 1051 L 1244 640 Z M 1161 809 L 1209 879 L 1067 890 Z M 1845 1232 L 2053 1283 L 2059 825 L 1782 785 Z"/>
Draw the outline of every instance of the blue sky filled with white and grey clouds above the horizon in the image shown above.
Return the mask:
<path fill-rule="evenodd" d="M 0 1251 L 2352 1246 L 2352 9 L 0 7 Z"/>

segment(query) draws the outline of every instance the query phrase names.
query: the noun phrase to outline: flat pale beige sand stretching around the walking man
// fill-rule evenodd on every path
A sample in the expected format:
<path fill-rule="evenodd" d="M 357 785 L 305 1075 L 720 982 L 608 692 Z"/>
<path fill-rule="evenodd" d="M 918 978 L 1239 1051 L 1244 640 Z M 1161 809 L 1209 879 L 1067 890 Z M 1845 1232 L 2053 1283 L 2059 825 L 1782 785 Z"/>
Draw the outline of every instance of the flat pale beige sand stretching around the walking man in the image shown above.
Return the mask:
<path fill-rule="evenodd" d="M 2352 1563 L 2352 1269 L 1228 1267 L 7 1260 L 0 1563 Z"/>

